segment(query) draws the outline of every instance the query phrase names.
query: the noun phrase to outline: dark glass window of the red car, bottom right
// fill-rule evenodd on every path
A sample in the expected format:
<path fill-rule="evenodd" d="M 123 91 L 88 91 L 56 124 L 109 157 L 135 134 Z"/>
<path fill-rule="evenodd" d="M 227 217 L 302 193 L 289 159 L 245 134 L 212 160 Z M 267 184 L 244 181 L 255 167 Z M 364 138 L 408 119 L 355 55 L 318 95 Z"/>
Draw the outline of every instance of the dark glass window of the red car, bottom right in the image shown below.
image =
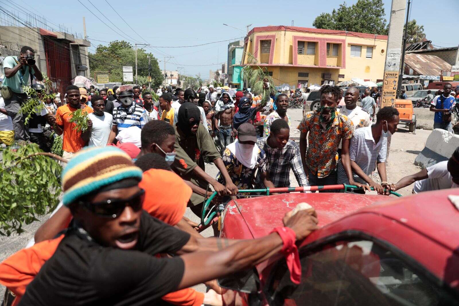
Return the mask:
<path fill-rule="evenodd" d="M 458 305 L 437 283 L 373 241 L 338 241 L 300 254 L 301 283 L 291 282 L 281 261 L 265 289 L 269 305 Z"/>

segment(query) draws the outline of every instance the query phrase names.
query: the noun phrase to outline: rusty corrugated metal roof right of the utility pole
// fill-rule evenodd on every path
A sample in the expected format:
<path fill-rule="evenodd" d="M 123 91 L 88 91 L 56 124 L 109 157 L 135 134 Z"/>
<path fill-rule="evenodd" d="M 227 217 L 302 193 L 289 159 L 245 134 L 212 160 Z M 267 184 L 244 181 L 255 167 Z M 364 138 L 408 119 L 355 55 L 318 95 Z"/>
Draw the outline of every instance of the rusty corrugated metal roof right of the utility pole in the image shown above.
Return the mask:
<path fill-rule="evenodd" d="M 438 56 L 426 54 L 405 54 L 405 65 L 417 74 L 440 75 L 442 70 L 451 71 L 451 65 Z"/>

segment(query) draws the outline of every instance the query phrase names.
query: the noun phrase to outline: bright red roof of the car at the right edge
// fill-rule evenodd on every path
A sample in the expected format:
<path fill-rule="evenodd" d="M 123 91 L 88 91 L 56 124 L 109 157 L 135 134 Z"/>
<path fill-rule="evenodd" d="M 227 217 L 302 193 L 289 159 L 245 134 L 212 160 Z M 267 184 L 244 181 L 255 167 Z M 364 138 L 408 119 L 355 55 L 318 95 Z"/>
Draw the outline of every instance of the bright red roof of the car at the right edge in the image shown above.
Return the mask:
<path fill-rule="evenodd" d="M 459 202 L 459 188 L 442 189 L 381 201 L 354 214 L 371 212 L 391 218 L 456 250 L 459 245 L 459 210 L 448 199 L 450 195 L 456 196 Z"/>

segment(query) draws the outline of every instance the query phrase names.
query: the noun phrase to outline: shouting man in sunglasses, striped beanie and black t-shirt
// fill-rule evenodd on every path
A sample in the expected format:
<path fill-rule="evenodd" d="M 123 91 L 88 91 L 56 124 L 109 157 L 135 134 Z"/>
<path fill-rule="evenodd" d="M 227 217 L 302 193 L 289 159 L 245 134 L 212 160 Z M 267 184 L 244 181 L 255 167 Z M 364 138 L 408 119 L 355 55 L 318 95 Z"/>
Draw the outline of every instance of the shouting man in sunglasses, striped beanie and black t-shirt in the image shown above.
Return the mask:
<path fill-rule="evenodd" d="M 196 239 L 141 210 L 141 176 L 114 147 L 84 149 L 69 161 L 62 173 L 63 203 L 74 223 L 20 305 L 157 305 L 168 292 L 294 248 L 295 240 L 317 228 L 309 210 L 287 213 L 285 227 L 256 241 Z M 158 252 L 181 256 L 151 256 Z"/>

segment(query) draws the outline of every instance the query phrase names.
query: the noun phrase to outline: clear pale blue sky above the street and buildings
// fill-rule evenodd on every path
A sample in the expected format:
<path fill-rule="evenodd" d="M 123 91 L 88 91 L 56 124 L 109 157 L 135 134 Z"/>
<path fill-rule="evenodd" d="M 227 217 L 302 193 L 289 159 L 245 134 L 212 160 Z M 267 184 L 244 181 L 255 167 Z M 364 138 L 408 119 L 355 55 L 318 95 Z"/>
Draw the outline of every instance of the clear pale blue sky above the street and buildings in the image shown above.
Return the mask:
<path fill-rule="evenodd" d="M 286 6 L 285 2 L 265 0 L 265 1 L 125 1 L 107 0 L 129 23 L 129 25 L 139 33 L 142 39 L 129 28 L 129 26 L 118 17 L 105 0 L 90 0 L 105 16 L 101 16 L 89 0 L 58 1 L 62 5 L 56 5 L 56 0 L 41 0 L 30 2 L 16 0 L 17 4 L 32 7 L 32 11 L 45 16 L 47 20 L 55 24 L 63 24 L 72 29 L 73 33 L 83 32 L 82 17 L 86 17 L 87 35 L 91 39 L 112 41 L 121 40 L 121 33 L 107 18 L 115 23 L 118 28 L 129 35 L 129 40 L 134 43 L 145 43 L 145 40 L 152 46 L 185 46 L 200 45 L 208 42 L 215 42 L 225 39 L 234 39 L 245 36 L 245 31 L 224 26 L 223 23 L 232 25 L 236 28 L 245 29 L 246 25 L 252 23 L 253 27 L 267 25 L 294 25 L 298 27 L 311 27 L 314 18 L 322 12 L 331 12 L 337 8 L 342 0 L 328 1 L 299 1 L 290 2 L 291 6 Z M 383 0 L 386 19 L 389 21 L 391 0 Z M 4 2 L 4 1 L 2 1 Z M 357 0 L 346 1 L 351 5 Z M 411 11 L 411 18 L 416 19 L 418 24 L 424 25 L 426 37 L 432 40 L 433 45 L 441 47 L 457 46 L 459 39 L 454 34 L 454 13 L 453 8 L 457 5 L 457 0 L 414 0 Z M 65 5 L 64 5 L 65 3 Z M 438 5 L 441 7 L 439 7 Z M 5 6 L 6 7 L 6 6 Z M 444 16 L 445 8 L 451 9 L 450 17 Z M 6 7 L 9 8 L 9 7 Z M 440 9 L 440 10 L 439 10 Z M 435 13 L 443 11 L 442 13 Z M 448 11 L 448 10 L 447 10 Z M 101 20 L 97 19 L 91 12 L 95 13 Z M 448 22 L 443 22 L 443 18 Z M 54 25 L 51 27 L 55 28 Z M 449 29 L 448 29 L 449 27 Z M 123 33 L 121 33 L 123 36 Z M 137 41 L 133 41 L 133 39 Z M 91 40 L 94 52 L 98 44 L 106 43 Z M 154 56 L 162 60 L 162 56 L 175 56 L 166 64 L 168 70 L 176 70 L 177 67 L 184 67 L 181 73 L 195 76 L 201 73 L 202 78 L 208 78 L 209 69 L 221 68 L 216 63 L 227 60 L 228 42 L 221 42 L 211 45 L 204 45 L 192 48 L 158 48 L 147 49 Z M 163 62 L 160 62 L 163 69 Z M 214 65 L 212 65 L 214 64 Z M 185 66 L 185 65 L 211 65 L 211 66 Z"/>

